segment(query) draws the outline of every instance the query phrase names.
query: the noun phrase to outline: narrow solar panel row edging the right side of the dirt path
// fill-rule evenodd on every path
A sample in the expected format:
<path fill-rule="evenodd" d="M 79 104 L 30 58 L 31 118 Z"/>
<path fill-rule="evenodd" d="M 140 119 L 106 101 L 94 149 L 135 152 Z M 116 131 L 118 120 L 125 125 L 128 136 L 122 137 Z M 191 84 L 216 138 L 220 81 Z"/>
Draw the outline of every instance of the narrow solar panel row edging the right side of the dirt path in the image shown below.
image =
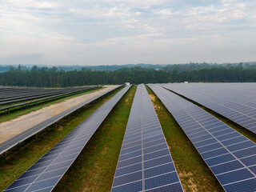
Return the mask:
<path fill-rule="evenodd" d="M 18 134 L 16 136 L 14 136 L 13 138 L 10 138 L 6 142 L 0 143 L 0 154 L 5 153 L 7 150 L 10 150 L 14 146 L 17 146 L 20 142 L 23 142 L 27 138 L 32 137 L 34 134 L 37 134 L 38 132 L 46 129 L 46 127 L 54 124 L 54 122 L 58 122 L 58 120 L 60 120 L 64 117 L 66 117 L 67 115 L 73 113 L 75 110 L 80 109 L 82 106 L 85 106 L 85 105 L 89 104 L 90 102 L 94 102 L 98 98 L 101 98 L 103 95 L 108 94 L 111 91 L 118 89 L 118 87 L 120 87 L 120 86 L 114 87 L 113 89 L 108 90 L 105 93 L 99 94 L 99 95 L 95 96 L 94 98 L 90 98 L 89 100 L 87 100 L 85 102 L 79 103 L 78 105 L 73 106 L 69 110 L 65 110 L 62 113 L 57 114 L 54 117 L 49 118 L 46 121 L 41 122 L 38 125 L 31 127 L 29 130 L 23 131 L 21 134 Z"/>

